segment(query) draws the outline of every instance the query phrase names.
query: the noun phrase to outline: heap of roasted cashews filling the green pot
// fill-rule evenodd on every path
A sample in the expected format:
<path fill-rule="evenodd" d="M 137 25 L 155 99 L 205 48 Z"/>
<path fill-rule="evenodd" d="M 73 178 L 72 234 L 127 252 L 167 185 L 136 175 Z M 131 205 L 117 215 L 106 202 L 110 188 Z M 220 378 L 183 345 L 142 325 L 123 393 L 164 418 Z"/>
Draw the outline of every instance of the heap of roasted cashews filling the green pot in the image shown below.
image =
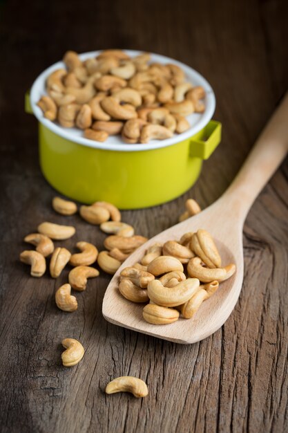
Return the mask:
<path fill-rule="evenodd" d="M 81 62 L 68 51 L 66 69 L 49 75 L 48 95 L 37 105 L 49 120 L 82 129 L 90 140 L 104 142 L 118 134 L 129 144 L 171 138 L 189 129 L 186 116 L 204 111 L 205 92 L 185 82 L 179 66 L 150 59 L 148 53 L 129 57 L 104 50 Z"/>

